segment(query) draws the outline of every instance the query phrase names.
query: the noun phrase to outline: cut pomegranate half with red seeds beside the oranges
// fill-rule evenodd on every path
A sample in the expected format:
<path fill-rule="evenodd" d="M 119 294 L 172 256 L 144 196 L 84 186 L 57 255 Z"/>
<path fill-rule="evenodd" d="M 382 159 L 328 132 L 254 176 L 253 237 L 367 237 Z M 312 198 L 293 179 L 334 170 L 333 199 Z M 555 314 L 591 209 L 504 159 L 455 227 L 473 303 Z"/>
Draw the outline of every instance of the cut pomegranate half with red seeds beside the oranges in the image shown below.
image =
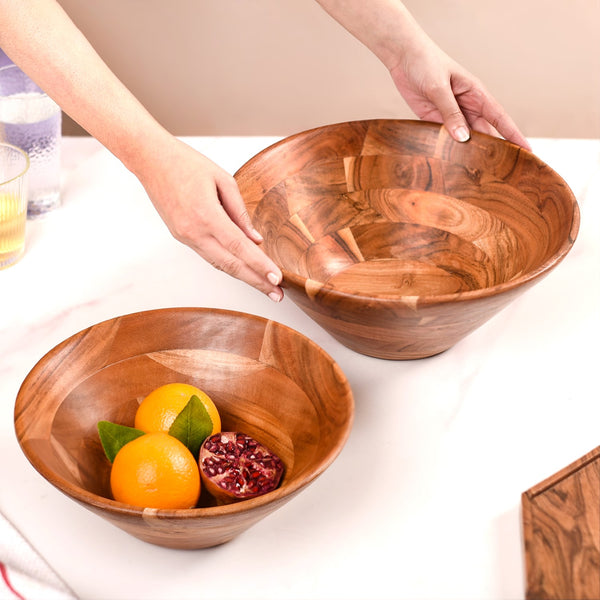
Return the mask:
<path fill-rule="evenodd" d="M 284 471 L 276 454 L 249 435 L 236 431 L 206 438 L 198 464 L 206 489 L 221 502 L 266 494 L 279 485 Z"/>

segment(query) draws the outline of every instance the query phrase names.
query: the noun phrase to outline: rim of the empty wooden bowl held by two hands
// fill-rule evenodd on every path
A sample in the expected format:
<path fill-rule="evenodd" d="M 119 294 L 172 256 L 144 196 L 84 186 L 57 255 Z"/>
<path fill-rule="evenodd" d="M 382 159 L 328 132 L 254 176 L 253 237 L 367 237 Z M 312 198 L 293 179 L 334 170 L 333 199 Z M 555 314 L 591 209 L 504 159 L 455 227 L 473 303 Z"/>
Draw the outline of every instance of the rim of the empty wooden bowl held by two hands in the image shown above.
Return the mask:
<path fill-rule="evenodd" d="M 250 169 L 252 164 L 254 164 L 254 162 L 256 162 L 259 158 L 262 158 L 263 156 L 269 154 L 270 152 L 277 150 L 281 146 L 285 146 L 291 142 L 301 139 L 302 137 L 314 135 L 315 133 L 318 133 L 320 131 L 326 131 L 328 129 L 334 129 L 336 127 L 343 127 L 344 125 L 353 126 L 353 125 L 361 125 L 361 124 L 369 125 L 369 124 L 379 124 L 379 123 L 408 125 L 410 127 L 416 127 L 416 128 L 421 128 L 421 129 L 432 129 L 433 128 L 437 131 L 444 128 L 444 125 L 442 125 L 440 123 L 434 123 L 433 121 L 419 121 L 416 119 L 362 119 L 362 120 L 357 120 L 357 121 L 342 121 L 342 122 L 333 123 L 330 125 L 321 125 L 319 127 L 313 127 L 312 129 L 307 129 L 306 131 L 301 131 L 301 132 L 292 134 L 288 137 L 285 137 L 285 138 L 278 140 L 277 142 L 274 142 L 273 144 L 267 146 L 266 148 L 261 150 L 259 153 L 257 153 L 255 156 L 253 156 L 250 160 L 248 160 L 245 164 L 243 164 L 234 174 L 234 178 L 237 178 L 238 176 L 242 175 L 246 170 Z M 462 291 L 462 292 L 452 292 L 452 293 L 448 293 L 448 294 L 427 294 L 424 296 L 407 296 L 407 295 L 402 295 L 402 294 L 386 294 L 386 293 L 373 293 L 373 294 L 358 293 L 357 294 L 357 293 L 345 292 L 343 290 L 340 290 L 339 288 L 332 287 L 331 285 L 329 285 L 326 282 L 322 282 L 322 281 L 318 281 L 316 279 L 311 279 L 308 277 L 303 277 L 302 275 L 298 275 L 297 273 L 294 273 L 292 271 L 284 269 L 282 267 L 282 265 L 278 264 L 277 266 L 281 269 L 282 274 L 283 274 L 282 286 L 286 287 L 286 283 L 287 283 L 287 285 L 292 284 L 292 286 L 295 286 L 295 287 L 300 287 L 300 288 L 304 287 L 305 288 L 307 282 L 312 281 L 312 282 L 314 282 L 315 289 L 317 289 L 317 288 L 321 289 L 324 292 L 326 292 L 327 295 L 329 295 L 331 298 L 338 299 L 338 300 L 340 300 L 340 299 L 354 300 L 354 301 L 360 302 L 360 303 L 364 303 L 365 301 L 369 301 L 369 300 L 377 300 L 377 301 L 382 301 L 382 302 L 394 302 L 394 303 L 404 302 L 404 303 L 410 304 L 410 305 L 414 305 L 414 303 L 416 301 L 416 302 L 418 302 L 419 305 L 435 305 L 435 304 L 443 304 L 443 303 L 448 303 L 448 302 L 476 300 L 476 299 L 480 299 L 480 298 L 487 298 L 490 296 L 495 296 L 497 294 L 510 291 L 510 290 L 518 288 L 524 284 L 532 282 L 535 279 L 542 277 L 547 272 L 552 270 L 570 252 L 571 248 L 573 247 L 573 244 L 575 243 L 575 241 L 577 239 L 577 235 L 579 233 L 580 211 L 579 211 L 579 204 L 577 202 L 575 194 L 573 193 L 573 191 L 571 190 L 571 188 L 569 187 L 567 182 L 563 179 L 563 177 L 561 177 L 561 175 L 559 175 L 552 167 L 550 167 L 548 164 L 546 164 L 544 161 L 542 161 L 539 157 L 537 157 L 535 154 L 533 154 L 533 152 L 531 152 L 525 148 L 522 148 L 521 146 L 517 146 L 513 142 L 509 142 L 508 140 L 505 140 L 504 138 L 498 138 L 498 137 L 494 137 L 492 135 L 488 135 L 485 133 L 480 133 L 478 131 L 472 130 L 471 131 L 471 139 L 469 141 L 454 142 L 454 143 L 469 144 L 469 143 L 471 143 L 472 140 L 478 140 L 478 139 L 483 142 L 485 142 L 485 141 L 488 141 L 488 142 L 494 141 L 496 143 L 500 142 L 502 144 L 508 144 L 509 146 L 513 146 L 513 147 L 517 148 L 519 153 L 522 153 L 522 154 L 528 156 L 530 159 L 533 160 L 533 162 L 536 165 L 545 167 L 559 181 L 561 181 L 564 184 L 565 191 L 567 193 L 567 196 L 571 200 L 571 205 L 573 207 L 571 228 L 569 230 L 568 235 L 566 236 L 566 239 L 563 241 L 563 243 L 560 245 L 560 247 L 557 249 L 557 251 L 554 253 L 554 255 L 551 256 L 548 260 L 543 262 L 541 265 L 539 265 L 535 269 L 533 269 L 527 273 L 524 273 L 523 275 L 520 275 L 519 277 L 515 277 L 514 279 L 511 279 L 510 281 L 506 281 L 506 282 L 499 283 L 499 284 L 485 287 L 485 288 L 479 288 L 479 289 L 475 289 L 475 290 L 468 290 L 468 291 Z M 322 161 L 316 161 L 315 164 L 318 164 L 318 162 L 322 162 Z"/>

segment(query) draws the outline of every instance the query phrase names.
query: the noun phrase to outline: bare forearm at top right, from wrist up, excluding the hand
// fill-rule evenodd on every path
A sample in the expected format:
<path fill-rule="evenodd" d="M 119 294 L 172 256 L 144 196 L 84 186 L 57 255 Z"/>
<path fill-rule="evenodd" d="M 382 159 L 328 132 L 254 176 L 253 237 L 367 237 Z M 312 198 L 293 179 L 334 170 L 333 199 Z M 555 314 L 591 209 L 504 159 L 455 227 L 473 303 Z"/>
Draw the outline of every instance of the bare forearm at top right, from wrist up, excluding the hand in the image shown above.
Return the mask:
<path fill-rule="evenodd" d="M 316 0 L 342 27 L 393 70 L 408 50 L 425 41 L 425 32 L 399 0 Z"/>

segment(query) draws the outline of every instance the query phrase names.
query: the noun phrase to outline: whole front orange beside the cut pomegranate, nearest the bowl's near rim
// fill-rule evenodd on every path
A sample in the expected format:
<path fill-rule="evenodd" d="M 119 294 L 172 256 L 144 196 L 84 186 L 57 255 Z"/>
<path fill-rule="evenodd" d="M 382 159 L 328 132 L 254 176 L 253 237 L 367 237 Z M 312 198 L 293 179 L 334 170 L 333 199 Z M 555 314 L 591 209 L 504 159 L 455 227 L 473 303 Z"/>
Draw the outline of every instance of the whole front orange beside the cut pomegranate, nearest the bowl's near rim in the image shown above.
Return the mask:
<path fill-rule="evenodd" d="M 193 508 L 200 471 L 193 454 L 167 433 L 147 433 L 115 456 L 110 487 L 118 502 L 142 508 Z"/>

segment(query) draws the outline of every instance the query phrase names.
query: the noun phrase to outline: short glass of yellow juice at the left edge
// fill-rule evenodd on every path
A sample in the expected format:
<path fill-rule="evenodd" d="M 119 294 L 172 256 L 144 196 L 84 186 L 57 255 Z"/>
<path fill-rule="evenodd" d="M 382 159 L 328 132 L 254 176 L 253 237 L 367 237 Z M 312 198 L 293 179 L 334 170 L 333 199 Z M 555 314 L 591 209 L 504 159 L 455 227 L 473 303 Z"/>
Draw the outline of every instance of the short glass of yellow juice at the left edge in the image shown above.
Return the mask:
<path fill-rule="evenodd" d="M 0 269 L 17 262 L 25 250 L 28 169 L 26 152 L 0 142 Z"/>

